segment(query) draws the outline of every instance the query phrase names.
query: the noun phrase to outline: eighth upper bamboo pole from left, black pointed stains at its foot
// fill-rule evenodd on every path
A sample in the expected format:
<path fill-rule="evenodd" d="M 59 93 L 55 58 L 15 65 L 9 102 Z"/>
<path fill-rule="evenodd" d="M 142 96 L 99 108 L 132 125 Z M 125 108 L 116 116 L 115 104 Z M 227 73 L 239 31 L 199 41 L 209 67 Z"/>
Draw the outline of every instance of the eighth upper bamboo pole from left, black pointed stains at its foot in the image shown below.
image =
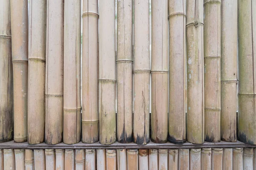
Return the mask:
<path fill-rule="evenodd" d="M 117 98 L 117 141 L 133 141 L 132 105 L 132 38 L 133 0 L 117 1 L 116 20 L 116 98 Z"/>

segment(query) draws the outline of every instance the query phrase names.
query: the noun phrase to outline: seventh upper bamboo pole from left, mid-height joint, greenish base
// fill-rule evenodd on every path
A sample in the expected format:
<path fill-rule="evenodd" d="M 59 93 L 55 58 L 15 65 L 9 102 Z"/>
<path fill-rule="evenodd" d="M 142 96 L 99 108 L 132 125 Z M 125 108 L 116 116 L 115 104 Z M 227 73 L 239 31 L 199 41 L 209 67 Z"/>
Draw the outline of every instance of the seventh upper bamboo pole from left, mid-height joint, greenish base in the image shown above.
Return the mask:
<path fill-rule="evenodd" d="M 115 1 L 99 4 L 99 142 L 116 142 Z"/>

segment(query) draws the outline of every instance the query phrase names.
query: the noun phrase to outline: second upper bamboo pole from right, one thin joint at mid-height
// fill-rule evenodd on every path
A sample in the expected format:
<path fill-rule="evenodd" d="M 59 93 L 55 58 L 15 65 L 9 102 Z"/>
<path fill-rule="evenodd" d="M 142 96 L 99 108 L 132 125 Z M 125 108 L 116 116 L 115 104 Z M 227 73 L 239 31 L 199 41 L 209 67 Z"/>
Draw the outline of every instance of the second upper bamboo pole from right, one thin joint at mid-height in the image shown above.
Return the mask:
<path fill-rule="evenodd" d="M 236 142 L 236 88 L 237 0 L 221 0 L 221 140 L 227 142 Z"/>

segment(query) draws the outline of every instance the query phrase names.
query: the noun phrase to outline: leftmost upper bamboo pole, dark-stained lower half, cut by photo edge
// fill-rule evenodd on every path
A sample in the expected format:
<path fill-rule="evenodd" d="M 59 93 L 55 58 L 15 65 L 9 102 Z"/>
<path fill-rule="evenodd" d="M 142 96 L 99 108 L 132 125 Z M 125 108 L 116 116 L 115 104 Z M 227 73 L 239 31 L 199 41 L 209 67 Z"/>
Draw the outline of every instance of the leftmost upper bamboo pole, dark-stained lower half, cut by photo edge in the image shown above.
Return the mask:
<path fill-rule="evenodd" d="M 8 142 L 13 139 L 11 7 L 9 0 L 0 3 L 0 142 Z"/>

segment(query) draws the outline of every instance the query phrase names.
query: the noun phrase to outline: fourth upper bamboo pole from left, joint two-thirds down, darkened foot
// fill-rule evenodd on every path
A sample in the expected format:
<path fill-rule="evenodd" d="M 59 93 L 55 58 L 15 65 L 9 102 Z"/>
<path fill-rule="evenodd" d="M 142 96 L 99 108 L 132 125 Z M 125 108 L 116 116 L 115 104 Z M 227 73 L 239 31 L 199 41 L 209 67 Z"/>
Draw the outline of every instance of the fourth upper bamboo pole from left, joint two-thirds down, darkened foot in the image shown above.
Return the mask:
<path fill-rule="evenodd" d="M 63 23 L 64 1 L 47 0 L 45 143 L 63 138 Z"/>

